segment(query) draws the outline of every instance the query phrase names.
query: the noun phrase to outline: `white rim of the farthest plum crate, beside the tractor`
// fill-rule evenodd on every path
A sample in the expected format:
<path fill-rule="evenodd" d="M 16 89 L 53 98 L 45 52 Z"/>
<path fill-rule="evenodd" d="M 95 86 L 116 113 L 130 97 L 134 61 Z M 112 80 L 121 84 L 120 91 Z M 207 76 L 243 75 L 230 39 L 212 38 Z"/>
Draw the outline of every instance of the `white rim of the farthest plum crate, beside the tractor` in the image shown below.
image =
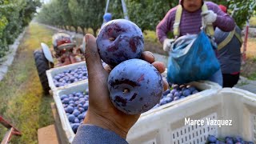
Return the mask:
<path fill-rule="evenodd" d="M 47 75 L 47 78 L 48 78 L 48 83 L 49 83 L 50 89 L 53 90 L 53 91 L 54 90 L 63 90 L 63 89 L 66 89 L 67 86 L 74 86 L 74 85 L 76 85 L 77 83 L 80 83 L 80 82 L 87 82 L 88 80 L 85 79 L 85 80 L 82 80 L 82 81 L 70 83 L 66 86 L 56 87 L 54 85 L 54 76 L 56 74 L 60 74 L 65 70 L 70 70 L 70 69 L 74 70 L 74 69 L 78 68 L 78 66 L 86 66 L 86 62 L 85 61 L 77 62 L 77 63 L 74 63 L 74 64 L 70 64 L 70 65 L 66 65 L 66 66 L 59 66 L 59 67 L 56 67 L 56 68 L 53 68 L 53 69 L 50 69 L 50 70 L 46 70 L 46 75 Z"/>

